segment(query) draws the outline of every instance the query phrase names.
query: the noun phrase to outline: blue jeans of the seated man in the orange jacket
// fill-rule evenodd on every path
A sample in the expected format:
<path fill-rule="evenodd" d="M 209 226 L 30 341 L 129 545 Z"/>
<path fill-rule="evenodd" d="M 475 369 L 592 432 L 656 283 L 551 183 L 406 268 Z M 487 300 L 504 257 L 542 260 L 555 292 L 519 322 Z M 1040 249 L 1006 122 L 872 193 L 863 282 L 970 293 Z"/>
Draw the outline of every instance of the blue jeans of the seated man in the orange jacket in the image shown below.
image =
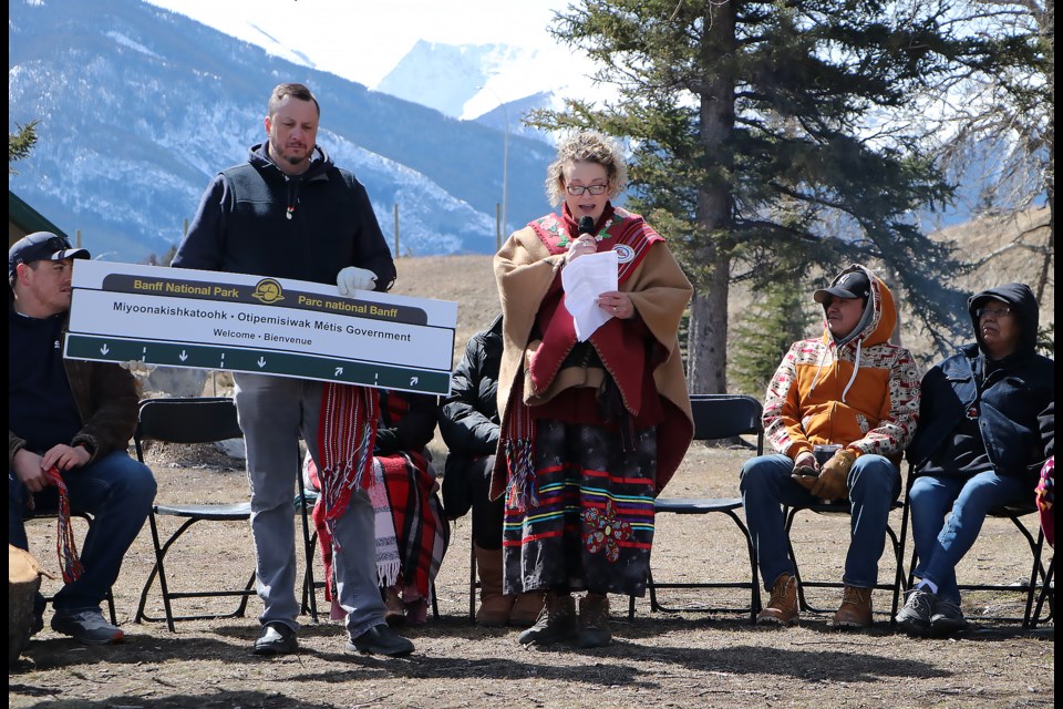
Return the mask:
<path fill-rule="evenodd" d="M 739 490 L 745 522 L 753 535 L 764 587 L 771 590 L 783 574 L 794 573 L 786 548 L 783 505 L 807 507 L 819 502 L 791 477 L 794 461 L 786 455 L 761 455 L 742 466 Z M 878 583 L 878 559 L 886 548 L 889 507 L 900 495 L 900 473 L 881 455 L 860 455 L 846 480 L 849 490 L 849 551 L 843 583 L 870 588 Z"/>

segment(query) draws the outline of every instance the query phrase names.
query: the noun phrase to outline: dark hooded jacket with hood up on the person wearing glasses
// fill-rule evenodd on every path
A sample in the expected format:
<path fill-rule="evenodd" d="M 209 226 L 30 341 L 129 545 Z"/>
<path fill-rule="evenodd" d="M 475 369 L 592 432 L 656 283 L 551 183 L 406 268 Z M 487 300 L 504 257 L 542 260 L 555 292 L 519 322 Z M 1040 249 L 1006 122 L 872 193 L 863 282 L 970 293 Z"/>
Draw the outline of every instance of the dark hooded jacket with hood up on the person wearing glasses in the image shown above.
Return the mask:
<path fill-rule="evenodd" d="M 1021 329 L 1015 351 L 987 356 L 976 310 L 985 300 L 1011 306 Z M 1029 286 L 1007 284 L 968 300 L 977 342 L 922 378 L 919 427 L 908 448 L 916 475 L 971 477 L 985 470 L 1019 477 L 1033 490 L 1054 430 L 1055 363 L 1035 352 L 1039 308 Z M 1040 417 L 1040 420 L 1039 420 Z M 1031 492 L 1032 494 L 1032 492 Z"/>

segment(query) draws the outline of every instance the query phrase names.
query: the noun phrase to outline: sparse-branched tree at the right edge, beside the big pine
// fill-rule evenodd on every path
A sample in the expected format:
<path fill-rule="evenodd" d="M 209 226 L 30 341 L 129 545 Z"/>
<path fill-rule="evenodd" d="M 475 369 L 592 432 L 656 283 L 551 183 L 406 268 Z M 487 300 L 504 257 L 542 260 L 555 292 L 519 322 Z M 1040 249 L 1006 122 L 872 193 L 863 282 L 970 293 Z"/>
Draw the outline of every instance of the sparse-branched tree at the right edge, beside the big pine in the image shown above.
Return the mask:
<path fill-rule="evenodd" d="M 931 86 L 914 111 L 933 116 L 928 132 L 953 178 L 980 185 L 976 214 L 1018 219 L 1046 207 L 1045 218 L 1018 229 L 1014 240 L 969 255 L 978 266 L 1009 250 L 1030 253 L 1040 265 L 1031 286 L 1041 300 L 1055 263 L 1055 3 L 960 0 L 954 13 L 995 51 L 961 58 L 963 71 Z"/>

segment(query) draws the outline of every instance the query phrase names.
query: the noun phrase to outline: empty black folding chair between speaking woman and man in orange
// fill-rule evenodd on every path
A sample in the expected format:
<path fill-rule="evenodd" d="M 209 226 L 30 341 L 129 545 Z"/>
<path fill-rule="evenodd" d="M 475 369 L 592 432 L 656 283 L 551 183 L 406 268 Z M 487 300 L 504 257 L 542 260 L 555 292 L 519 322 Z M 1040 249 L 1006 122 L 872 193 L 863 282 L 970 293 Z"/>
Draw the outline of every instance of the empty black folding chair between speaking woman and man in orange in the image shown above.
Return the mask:
<path fill-rule="evenodd" d="M 761 424 L 763 408 L 761 402 L 747 394 L 691 394 L 690 404 L 694 417 L 694 440 L 715 441 L 734 438 L 742 434 L 756 434 L 756 454 L 764 452 L 764 429 Z M 735 471 L 736 473 L 736 471 Z M 745 582 L 659 582 L 653 578 L 652 558 L 651 569 L 647 578 L 647 589 L 650 594 L 650 610 L 665 612 L 695 612 L 722 613 L 735 612 L 750 614 L 750 621 L 756 621 L 756 614 L 761 609 L 761 587 L 757 582 L 756 548 L 745 523 L 737 515 L 742 507 L 741 497 L 658 497 L 653 503 L 656 515 L 660 514 L 709 514 L 722 513 L 731 518 L 745 537 L 746 551 L 750 556 L 750 580 Z M 750 605 L 747 607 L 684 607 L 669 608 L 658 599 L 660 588 L 749 588 Z M 634 597 L 628 602 L 628 617 L 634 617 Z"/>

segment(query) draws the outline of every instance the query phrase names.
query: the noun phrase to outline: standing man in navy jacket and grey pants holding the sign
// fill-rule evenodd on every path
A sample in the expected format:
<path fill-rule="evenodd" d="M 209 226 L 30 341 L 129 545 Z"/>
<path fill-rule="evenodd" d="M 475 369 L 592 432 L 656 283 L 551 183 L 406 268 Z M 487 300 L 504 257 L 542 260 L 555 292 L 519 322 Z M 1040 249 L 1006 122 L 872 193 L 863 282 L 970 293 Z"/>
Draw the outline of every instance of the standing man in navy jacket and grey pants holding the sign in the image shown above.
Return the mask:
<path fill-rule="evenodd" d="M 344 297 L 391 288 L 395 266 L 369 196 L 316 144 L 319 119 L 318 101 L 306 86 L 274 89 L 267 141 L 250 148 L 247 163 L 214 178 L 173 266 L 336 282 Z M 365 492 L 375 392 L 266 374 L 236 373 L 235 380 L 265 606 L 255 654 L 298 649 L 291 495 L 300 435 L 323 476 L 350 647 L 389 656 L 412 653 L 413 644 L 384 623 L 376 585 L 373 507 Z"/>

